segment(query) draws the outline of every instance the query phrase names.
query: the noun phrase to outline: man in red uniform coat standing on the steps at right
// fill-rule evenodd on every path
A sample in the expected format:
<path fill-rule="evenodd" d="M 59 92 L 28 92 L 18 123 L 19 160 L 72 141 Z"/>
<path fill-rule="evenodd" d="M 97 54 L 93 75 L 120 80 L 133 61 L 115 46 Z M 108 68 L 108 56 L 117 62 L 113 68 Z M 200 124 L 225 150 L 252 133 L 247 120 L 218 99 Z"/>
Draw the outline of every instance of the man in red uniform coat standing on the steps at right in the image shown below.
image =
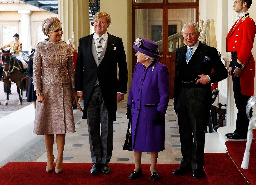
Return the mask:
<path fill-rule="evenodd" d="M 247 12 L 252 0 L 235 0 L 234 10 L 238 20 L 227 35 L 227 51 L 231 52 L 228 74 L 232 76 L 236 107 L 236 130 L 225 134 L 229 139 L 246 139 L 249 120 L 246 116 L 246 104 L 254 95 L 255 62 L 252 47 L 256 27 Z"/>

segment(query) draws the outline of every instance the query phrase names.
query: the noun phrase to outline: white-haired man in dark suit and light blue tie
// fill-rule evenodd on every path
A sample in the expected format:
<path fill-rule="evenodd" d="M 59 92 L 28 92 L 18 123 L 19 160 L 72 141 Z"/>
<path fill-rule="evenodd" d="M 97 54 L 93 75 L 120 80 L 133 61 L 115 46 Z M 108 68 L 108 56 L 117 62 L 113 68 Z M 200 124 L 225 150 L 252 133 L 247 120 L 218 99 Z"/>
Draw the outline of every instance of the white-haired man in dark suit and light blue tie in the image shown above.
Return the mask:
<path fill-rule="evenodd" d="M 180 175 L 192 171 L 194 178 L 205 175 L 204 140 L 209 121 L 212 92 L 211 83 L 228 76 L 215 48 L 198 41 L 196 23 L 185 23 L 182 28 L 187 45 L 176 52 L 174 77 L 174 110 L 178 116 L 182 161 L 172 173 Z M 215 73 L 211 73 L 214 69 Z"/>

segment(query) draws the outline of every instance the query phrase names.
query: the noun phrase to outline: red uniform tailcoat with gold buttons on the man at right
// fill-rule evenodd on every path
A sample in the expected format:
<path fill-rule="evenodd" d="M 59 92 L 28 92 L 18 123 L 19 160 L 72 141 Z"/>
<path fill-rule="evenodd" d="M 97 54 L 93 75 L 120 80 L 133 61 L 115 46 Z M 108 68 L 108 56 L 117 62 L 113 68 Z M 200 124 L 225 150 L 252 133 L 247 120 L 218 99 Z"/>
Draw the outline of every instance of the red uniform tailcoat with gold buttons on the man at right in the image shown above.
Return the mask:
<path fill-rule="evenodd" d="M 256 27 L 255 22 L 246 14 L 238 23 L 234 24 L 227 35 L 228 52 L 237 52 L 237 60 L 235 66 L 242 69 L 240 75 L 241 92 L 243 95 L 254 95 L 254 73 L 255 62 L 252 55 L 253 41 L 255 37 Z M 232 66 L 232 65 L 229 65 Z"/>

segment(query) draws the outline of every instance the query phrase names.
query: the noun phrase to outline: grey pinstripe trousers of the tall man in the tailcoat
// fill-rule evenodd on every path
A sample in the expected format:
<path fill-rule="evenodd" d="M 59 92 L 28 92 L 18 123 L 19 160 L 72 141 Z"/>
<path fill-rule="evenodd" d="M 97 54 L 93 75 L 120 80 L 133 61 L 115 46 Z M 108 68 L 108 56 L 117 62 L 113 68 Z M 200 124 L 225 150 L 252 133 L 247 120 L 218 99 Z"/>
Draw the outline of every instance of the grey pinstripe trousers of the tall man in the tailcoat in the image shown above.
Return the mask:
<path fill-rule="evenodd" d="M 108 164 L 113 150 L 113 120 L 108 116 L 98 85 L 93 88 L 88 101 L 87 124 L 92 162 Z"/>

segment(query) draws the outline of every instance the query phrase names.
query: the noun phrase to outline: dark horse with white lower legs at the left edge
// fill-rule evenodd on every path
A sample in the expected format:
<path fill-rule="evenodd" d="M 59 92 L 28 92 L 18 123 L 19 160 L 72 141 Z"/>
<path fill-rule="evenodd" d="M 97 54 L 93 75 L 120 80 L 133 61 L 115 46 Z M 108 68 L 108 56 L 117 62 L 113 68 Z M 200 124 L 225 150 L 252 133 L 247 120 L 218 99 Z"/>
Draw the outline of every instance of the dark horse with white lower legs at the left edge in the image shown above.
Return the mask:
<path fill-rule="evenodd" d="M 26 76 L 25 73 L 21 71 L 21 66 L 17 62 L 17 59 L 9 50 L 2 49 L 2 61 L 3 61 L 3 77 L 4 77 L 4 84 L 6 87 L 6 92 L 10 92 L 9 82 L 15 82 L 17 85 L 17 92 L 19 94 L 19 103 L 18 105 L 22 104 L 22 80 L 26 79 L 26 96 L 27 96 L 27 89 L 29 84 L 29 77 Z M 9 101 L 9 94 L 7 93 L 7 98 L 4 102 L 4 105 L 8 105 Z"/>

